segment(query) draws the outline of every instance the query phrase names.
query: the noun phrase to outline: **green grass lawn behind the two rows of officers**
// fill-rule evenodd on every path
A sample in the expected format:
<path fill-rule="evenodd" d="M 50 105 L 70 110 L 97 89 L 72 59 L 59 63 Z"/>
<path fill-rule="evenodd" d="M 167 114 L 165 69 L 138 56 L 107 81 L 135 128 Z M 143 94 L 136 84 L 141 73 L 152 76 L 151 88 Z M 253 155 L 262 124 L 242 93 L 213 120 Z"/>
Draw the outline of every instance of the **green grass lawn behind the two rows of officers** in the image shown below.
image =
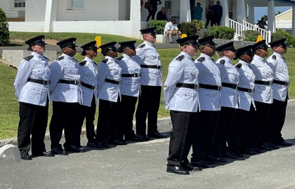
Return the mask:
<path fill-rule="evenodd" d="M 22 41 L 27 40 L 27 38 L 31 38 L 33 36 L 37 36 L 43 33 L 25 33 L 25 32 L 11 32 L 11 44 L 10 45 L 24 45 L 24 43 L 15 43 L 13 40 L 20 39 Z M 61 40 L 63 38 L 68 37 L 77 37 L 77 43 L 83 44 L 89 41 L 93 41 L 95 36 L 102 36 L 103 43 L 107 43 L 110 41 L 128 41 L 133 40 L 132 38 L 126 38 L 124 36 L 111 36 L 111 35 L 101 35 L 101 34 L 60 34 L 60 33 L 46 33 L 46 38 L 52 38 L 55 40 Z M 80 42 L 79 42 L 80 41 Z M 138 43 L 142 42 L 137 40 Z M 163 64 L 163 83 L 166 79 L 167 68 L 169 62 L 176 57 L 179 53 L 179 49 L 177 48 L 169 48 L 169 49 L 159 49 L 159 55 L 161 57 L 161 61 Z M 269 51 L 270 55 L 272 51 Z M 198 53 L 199 54 L 199 53 Z M 289 94 L 291 99 L 295 97 L 295 49 L 290 48 L 286 55 L 284 55 L 287 59 L 287 64 L 289 67 L 289 76 L 291 80 L 291 84 L 289 86 Z M 81 54 L 77 54 L 74 56 L 78 61 L 84 59 Z M 197 57 L 195 57 L 197 58 Z M 217 59 L 216 56 L 213 57 Z M 100 62 L 103 59 L 103 55 L 98 55 L 95 61 Z M 233 62 L 233 64 L 237 63 L 237 60 Z M 8 139 L 16 137 L 16 132 L 18 128 L 18 101 L 15 98 L 15 90 L 13 88 L 13 82 L 15 79 L 16 70 L 6 66 L 4 64 L 0 64 L 0 139 Z M 51 119 L 51 109 L 52 106 L 49 107 L 49 119 Z M 169 111 L 164 108 L 164 99 L 163 95 L 161 97 L 161 104 L 159 109 L 159 118 L 169 117 Z M 96 115 L 97 118 L 97 115 Z"/>

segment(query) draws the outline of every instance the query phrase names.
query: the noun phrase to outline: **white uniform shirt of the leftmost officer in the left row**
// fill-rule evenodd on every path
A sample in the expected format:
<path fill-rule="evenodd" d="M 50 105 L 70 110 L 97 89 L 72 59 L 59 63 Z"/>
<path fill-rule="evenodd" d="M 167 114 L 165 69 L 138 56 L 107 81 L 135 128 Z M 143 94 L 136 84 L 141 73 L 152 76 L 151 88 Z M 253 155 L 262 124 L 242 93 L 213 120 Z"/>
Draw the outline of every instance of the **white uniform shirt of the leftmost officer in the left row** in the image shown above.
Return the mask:
<path fill-rule="evenodd" d="M 19 102 L 46 106 L 49 94 L 49 85 L 27 82 L 28 78 L 37 80 L 49 80 L 51 71 L 48 67 L 48 59 L 43 55 L 32 52 L 31 59 L 22 59 L 15 77 L 15 96 Z"/>

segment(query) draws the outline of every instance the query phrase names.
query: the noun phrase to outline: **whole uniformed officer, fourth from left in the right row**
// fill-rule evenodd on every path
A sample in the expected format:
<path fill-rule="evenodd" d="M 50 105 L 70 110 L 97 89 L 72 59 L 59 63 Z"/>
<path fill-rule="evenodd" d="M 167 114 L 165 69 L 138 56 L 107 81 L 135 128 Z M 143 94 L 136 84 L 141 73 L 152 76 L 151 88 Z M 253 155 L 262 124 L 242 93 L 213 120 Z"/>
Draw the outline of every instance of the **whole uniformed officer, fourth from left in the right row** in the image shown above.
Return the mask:
<path fill-rule="evenodd" d="M 254 53 L 251 50 L 252 45 L 239 48 L 234 59 L 240 59 L 235 65 L 239 74 L 239 83 L 237 84 L 237 92 L 239 97 L 239 109 L 235 112 L 234 125 L 228 139 L 228 149 L 230 152 L 241 157 L 242 154 L 254 155 L 255 152 L 250 148 L 251 134 L 253 134 L 253 119 L 249 117 L 250 109 L 255 111 L 253 99 L 255 75 L 249 66 L 251 64 Z M 241 121 L 242 120 L 242 121 Z"/>

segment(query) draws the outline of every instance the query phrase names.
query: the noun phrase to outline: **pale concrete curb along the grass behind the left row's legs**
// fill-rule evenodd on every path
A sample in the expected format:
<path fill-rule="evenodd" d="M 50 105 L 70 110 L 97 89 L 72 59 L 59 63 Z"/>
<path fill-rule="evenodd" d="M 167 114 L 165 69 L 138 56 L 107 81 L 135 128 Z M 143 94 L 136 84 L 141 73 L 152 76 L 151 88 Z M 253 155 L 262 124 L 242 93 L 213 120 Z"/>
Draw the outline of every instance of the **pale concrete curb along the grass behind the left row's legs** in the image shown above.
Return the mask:
<path fill-rule="evenodd" d="M 164 127 L 166 125 L 171 125 L 171 119 L 170 118 L 161 118 L 161 119 L 158 119 L 158 127 L 159 127 L 159 130 L 161 130 L 161 127 Z M 65 136 L 63 135 L 63 138 L 64 137 Z M 86 130 L 85 130 L 85 128 L 82 129 L 81 137 L 86 137 Z M 50 140 L 49 133 L 46 133 L 45 134 L 44 140 L 45 141 Z M 4 146 L 6 144 L 13 144 L 13 145 L 17 146 L 18 145 L 18 138 L 0 140 L 0 147 Z"/>

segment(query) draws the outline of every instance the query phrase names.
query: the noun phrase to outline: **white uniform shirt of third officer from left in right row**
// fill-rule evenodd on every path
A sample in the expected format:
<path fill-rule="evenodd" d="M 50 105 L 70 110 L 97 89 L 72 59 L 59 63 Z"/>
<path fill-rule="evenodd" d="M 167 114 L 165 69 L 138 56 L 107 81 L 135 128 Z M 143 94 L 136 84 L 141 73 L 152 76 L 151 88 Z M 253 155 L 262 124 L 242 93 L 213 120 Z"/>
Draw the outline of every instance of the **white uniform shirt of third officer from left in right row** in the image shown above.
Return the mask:
<path fill-rule="evenodd" d="M 223 59 L 224 64 L 221 63 Z M 239 83 L 239 72 L 235 69 L 235 66 L 232 66 L 231 59 L 228 57 L 222 57 L 217 59 L 216 65 L 218 66 L 219 71 L 221 72 L 221 82 L 236 84 Z M 230 87 L 222 87 L 221 89 L 221 106 L 238 109 L 238 93 L 236 89 Z"/>

